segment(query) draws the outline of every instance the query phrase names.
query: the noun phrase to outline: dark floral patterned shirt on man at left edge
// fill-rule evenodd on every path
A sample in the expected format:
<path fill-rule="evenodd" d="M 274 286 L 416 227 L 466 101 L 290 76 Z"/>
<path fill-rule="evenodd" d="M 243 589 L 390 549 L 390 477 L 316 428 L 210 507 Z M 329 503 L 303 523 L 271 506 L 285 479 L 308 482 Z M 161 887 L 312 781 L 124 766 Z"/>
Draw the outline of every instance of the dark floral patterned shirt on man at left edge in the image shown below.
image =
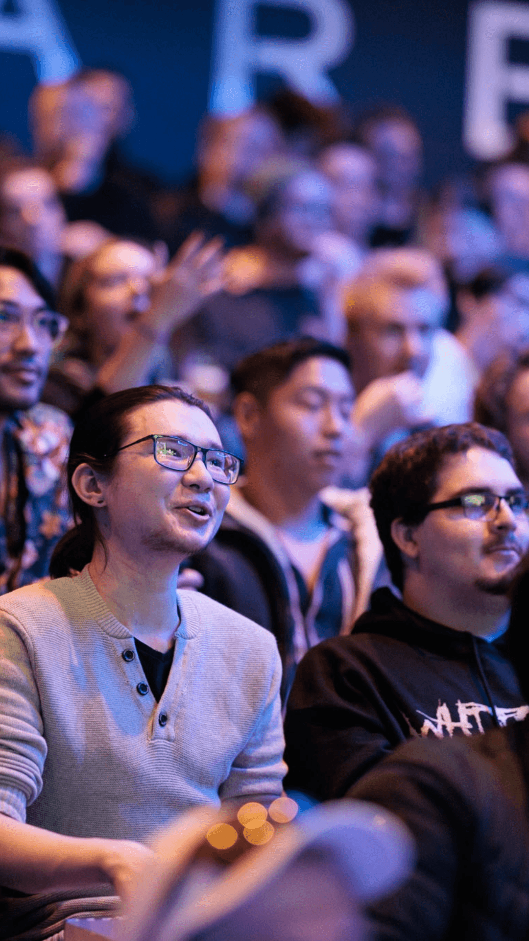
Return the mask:
<path fill-rule="evenodd" d="M 71 436 L 68 416 L 42 403 L 8 418 L 0 594 L 47 577 L 56 542 L 72 526 L 64 473 Z"/>

